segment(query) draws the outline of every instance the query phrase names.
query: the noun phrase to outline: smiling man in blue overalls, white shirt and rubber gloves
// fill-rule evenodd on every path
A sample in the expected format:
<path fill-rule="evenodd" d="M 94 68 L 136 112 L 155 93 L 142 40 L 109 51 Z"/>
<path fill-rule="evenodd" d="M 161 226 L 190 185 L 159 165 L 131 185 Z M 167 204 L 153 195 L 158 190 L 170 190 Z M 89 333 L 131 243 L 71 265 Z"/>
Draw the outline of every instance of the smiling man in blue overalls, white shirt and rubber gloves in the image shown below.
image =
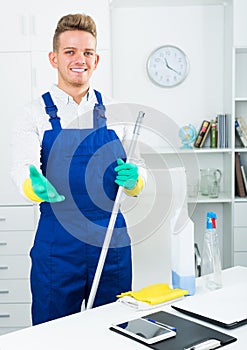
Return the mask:
<path fill-rule="evenodd" d="M 125 163 L 123 144 L 106 127 L 104 98 L 90 87 L 96 37 L 90 16 L 59 20 L 49 53 L 58 83 L 18 116 L 14 132 L 12 177 L 40 202 L 31 250 L 34 325 L 87 303 L 118 185 L 131 196 L 144 186 L 143 162 Z M 125 138 L 124 127 L 119 134 Z M 130 238 L 119 213 L 94 306 L 116 300 L 131 280 Z"/>

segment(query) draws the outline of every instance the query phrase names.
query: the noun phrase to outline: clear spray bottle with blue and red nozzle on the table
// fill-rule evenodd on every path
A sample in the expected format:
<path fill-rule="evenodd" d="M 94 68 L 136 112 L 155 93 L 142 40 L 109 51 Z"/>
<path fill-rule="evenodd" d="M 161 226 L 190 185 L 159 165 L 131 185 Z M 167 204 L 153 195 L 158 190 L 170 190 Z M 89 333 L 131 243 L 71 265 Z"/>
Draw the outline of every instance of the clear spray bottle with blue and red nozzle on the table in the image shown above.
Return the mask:
<path fill-rule="evenodd" d="M 222 287 L 221 255 L 216 230 L 216 214 L 207 213 L 206 232 L 202 249 L 202 278 L 207 289 Z"/>

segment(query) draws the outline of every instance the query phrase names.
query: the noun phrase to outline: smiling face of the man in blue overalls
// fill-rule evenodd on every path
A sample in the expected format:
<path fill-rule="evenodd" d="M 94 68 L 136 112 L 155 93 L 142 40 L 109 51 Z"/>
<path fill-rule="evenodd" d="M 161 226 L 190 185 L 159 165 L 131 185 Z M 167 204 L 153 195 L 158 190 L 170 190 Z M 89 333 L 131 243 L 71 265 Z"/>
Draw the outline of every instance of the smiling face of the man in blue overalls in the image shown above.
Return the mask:
<path fill-rule="evenodd" d="M 58 70 L 59 88 L 89 87 L 99 61 L 95 50 L 96 39 L 91 33 L 73 30 L 59 36 L 58 52 L 49 53 L 51 65 Z"/>

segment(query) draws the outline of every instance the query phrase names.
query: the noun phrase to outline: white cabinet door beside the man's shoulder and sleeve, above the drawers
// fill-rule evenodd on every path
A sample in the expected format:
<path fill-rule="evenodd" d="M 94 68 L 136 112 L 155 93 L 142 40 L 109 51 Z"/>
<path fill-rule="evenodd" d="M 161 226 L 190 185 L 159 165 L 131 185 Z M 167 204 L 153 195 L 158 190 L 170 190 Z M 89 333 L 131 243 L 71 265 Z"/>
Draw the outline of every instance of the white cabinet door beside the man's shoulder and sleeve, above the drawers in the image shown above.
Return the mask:
<path fill-rule="evenodd" d="M 28 53 L 0 53 L 1 131 L 0 131 L 0 204 L 27 203 L 10 178 L 11 137 L 19 109 L 30 102 L 31 74 Z"/>

